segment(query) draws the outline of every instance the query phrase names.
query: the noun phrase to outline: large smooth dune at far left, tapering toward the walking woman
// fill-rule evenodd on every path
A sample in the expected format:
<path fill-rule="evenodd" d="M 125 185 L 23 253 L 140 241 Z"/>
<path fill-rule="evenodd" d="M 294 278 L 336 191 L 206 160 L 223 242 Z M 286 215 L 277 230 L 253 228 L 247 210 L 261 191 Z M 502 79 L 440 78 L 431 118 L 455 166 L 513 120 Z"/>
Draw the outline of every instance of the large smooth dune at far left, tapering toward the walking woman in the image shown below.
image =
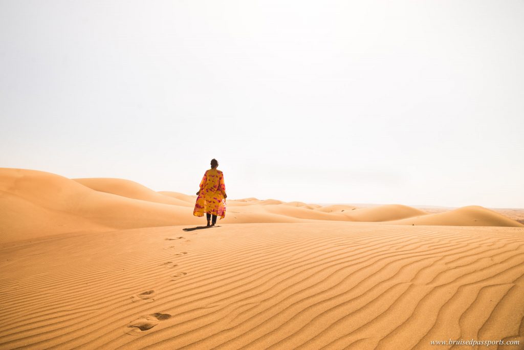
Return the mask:
<path fill-rule="evenodd" d="M 187 207 L 95 191 L 42 171 L 0 169 L 0 191 L 2 242 L 62 232 L 201 222 Z"/>

